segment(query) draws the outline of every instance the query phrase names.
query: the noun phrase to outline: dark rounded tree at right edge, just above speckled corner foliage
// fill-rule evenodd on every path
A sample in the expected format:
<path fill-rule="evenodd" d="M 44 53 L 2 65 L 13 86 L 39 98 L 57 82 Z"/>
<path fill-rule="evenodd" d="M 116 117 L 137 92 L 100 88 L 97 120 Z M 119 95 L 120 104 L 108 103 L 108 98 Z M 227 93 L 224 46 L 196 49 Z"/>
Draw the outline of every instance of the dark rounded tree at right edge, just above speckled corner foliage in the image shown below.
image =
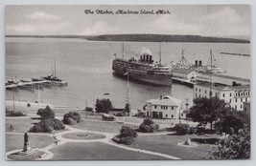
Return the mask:
<path fill-rule="evenodd" d="M 240 129 L 243 129 L 246 124 L 249 124 L 247 114 L 233 110 L 223 113 L 221 120 L 215 124 L 215 128 L 220 133 L 233 135 L 237 134 Z"/>

